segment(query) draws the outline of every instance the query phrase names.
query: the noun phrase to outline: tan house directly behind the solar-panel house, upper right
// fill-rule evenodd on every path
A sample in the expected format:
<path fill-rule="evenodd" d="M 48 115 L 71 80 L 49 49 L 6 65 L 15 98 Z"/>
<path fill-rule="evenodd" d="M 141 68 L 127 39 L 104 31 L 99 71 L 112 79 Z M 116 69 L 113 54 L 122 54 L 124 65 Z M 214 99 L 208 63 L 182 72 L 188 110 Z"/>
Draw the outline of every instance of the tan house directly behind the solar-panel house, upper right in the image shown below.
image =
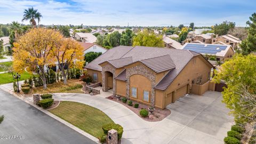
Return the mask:
<path fill-rule="evenodd" d="M 241 39 L 232 35 L 217 36 L 212 39 L 212 44 L 227 44 L 234 47 L 234 49 L 238 48 L 240 43 Z"/>

